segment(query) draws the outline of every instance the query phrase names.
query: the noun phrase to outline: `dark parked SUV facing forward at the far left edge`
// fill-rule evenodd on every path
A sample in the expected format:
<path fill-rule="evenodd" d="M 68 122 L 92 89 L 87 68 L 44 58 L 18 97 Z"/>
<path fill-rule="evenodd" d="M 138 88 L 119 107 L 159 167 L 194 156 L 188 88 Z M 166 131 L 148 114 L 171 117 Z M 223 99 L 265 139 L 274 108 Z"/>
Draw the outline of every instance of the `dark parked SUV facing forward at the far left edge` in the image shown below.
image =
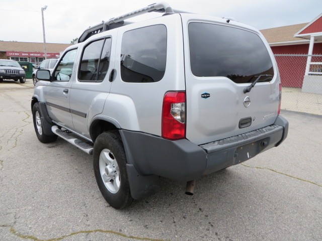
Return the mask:
<path fill-rule="evenodd" d="M 17 61 L 0 59 L 0 83 L 3 82 L 4 79 L 19 80 L 20 83 L 25 83 L 25 77 L 26 72 Z"/>

